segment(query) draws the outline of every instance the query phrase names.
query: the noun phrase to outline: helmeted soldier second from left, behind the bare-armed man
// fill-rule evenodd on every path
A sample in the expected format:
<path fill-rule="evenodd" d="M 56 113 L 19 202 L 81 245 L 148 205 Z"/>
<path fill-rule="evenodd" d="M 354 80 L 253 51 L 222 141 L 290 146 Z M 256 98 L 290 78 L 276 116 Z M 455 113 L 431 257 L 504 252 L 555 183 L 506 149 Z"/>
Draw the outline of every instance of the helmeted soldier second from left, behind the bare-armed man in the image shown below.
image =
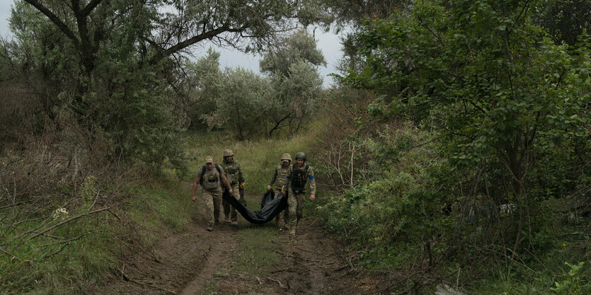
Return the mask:
<path fill-rule="evenodd" d="M 244 187 L 244 176 L 242 175 L 240 164 L 234 161 L 234 152 L 232 152 L 231 149 L 224 150 L 224 161 L 222 161 L 222 168 L 224 168 L 226 178 L 228 178 L 228 182 L 230 183 L 232 190 L 236 192 L 234 197 L 236 197 L 236 199 L 242 203 L 242 195 L 239 194 L 239 187 Z M 234 209 L 234 207 L 232 207 L 229 202 L 226 202 L 225 199 L 222 200 L 222 204 L 224 205 L 226 224 L 238 224 L 238 212 L 236 212 L 236 209 Z"/>

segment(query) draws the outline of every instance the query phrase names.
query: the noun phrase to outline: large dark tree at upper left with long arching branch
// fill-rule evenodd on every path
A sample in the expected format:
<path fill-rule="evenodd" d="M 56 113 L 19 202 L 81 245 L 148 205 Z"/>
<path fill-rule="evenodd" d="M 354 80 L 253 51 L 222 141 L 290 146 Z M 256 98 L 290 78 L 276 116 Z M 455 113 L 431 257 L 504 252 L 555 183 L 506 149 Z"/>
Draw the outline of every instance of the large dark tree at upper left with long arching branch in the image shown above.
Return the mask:
<path fill-rule="evenodd" d="M 45 66 L 44 83 L 54 91 L 35 93 L 47 96 L 40 100 L 48 102 L 48 117 L 71 112 L 76 124 L 113 140 L 114 155 L 157 163 L 172 156 L 163 148 L 185 125 L 183 118 L 175 120 L 179 106 L 190 104 L 178 98 L 188 97 L 178 85 L 183 55 L 205 40 L 261 50 L 275 33 L 296 25 L 306 3 L 22 0 L 13 8 L 11 28 L 21 48 L 30 48 L 35 63 L 27 66 Z"/>

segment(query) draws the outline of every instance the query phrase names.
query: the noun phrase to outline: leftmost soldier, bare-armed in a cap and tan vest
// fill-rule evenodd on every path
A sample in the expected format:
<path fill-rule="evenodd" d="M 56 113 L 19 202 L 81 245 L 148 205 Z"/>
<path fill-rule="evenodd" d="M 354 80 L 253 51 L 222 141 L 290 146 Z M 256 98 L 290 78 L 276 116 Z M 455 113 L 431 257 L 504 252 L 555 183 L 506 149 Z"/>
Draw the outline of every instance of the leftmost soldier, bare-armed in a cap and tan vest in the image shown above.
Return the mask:
<path fill-rule="evenodd" d="M 214 224 L 219 223 L 219 207 L 222 204 L 222 182 L 231 193 L 232 187 L 226 179 L 224 169 L 214 164 L 212 156 L 205 157 L 205 166 L 197 170 L 197 175 L 193 180 L 191 199 L 193 199 L 193 202 L 197 202 L 195 191 L 197 191 L 197 184 L 200 184 L 205 201 L 205 215 L 208 221 L 207 231 L 213 231 Z"/>

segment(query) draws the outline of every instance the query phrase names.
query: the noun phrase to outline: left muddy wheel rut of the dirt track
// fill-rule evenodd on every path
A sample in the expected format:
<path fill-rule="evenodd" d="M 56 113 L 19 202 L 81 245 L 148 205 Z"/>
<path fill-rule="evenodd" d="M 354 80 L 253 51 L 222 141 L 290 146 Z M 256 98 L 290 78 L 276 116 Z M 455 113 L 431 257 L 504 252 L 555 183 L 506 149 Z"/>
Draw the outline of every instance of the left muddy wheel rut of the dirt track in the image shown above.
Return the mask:
<path fill-rule="evenodd" d="M 157 243 L 122 263 L 105 283 L 85 294 L 202 294 L 217 267 L 234 254 L 238 242 L 233 226 L 205 230 L 202 221 Z"/>

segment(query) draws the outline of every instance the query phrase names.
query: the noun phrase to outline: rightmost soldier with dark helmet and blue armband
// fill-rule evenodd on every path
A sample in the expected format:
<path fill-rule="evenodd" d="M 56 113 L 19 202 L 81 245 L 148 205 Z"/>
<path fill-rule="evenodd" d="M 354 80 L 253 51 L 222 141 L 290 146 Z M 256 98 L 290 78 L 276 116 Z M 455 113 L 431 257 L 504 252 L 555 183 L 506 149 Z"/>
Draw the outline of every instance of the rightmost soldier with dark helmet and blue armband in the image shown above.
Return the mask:
<path fill-rule="evenodd" d="M 306 154 L 302 151 L 296 154 L 296 163 L 289 166 L 287 170 L 287 209 L 289 235 L 295 236 L 299 219 L 302 219 L 304 211 L 304 197 L 306 195 L 306 183 L 310 180 L 310 201 L 316 197 L 316 180 L 314 180 L 314 169 L 306 164 Z"/>

